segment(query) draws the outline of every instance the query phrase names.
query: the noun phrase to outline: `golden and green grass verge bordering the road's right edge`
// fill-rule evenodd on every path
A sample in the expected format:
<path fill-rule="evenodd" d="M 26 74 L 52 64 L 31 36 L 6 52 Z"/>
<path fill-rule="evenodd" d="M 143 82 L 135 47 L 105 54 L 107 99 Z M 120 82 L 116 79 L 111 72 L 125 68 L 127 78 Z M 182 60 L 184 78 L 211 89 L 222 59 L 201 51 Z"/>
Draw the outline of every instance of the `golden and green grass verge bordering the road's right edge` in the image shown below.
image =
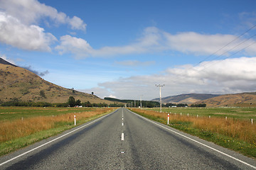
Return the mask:
<path fill-rule="evenodd" d="M 167 124 L 167 114 L 154 111 L 132 109 L 146 118 Z M 203 140 L 214 142 L 217 145 L 233 149 L 241 154 L 256 158 L 256 127 L 247 121 L 223 119 L 196 118 L 183 115 L 170 115 L 169 126 L 188 134 L 200 137 Z"/>

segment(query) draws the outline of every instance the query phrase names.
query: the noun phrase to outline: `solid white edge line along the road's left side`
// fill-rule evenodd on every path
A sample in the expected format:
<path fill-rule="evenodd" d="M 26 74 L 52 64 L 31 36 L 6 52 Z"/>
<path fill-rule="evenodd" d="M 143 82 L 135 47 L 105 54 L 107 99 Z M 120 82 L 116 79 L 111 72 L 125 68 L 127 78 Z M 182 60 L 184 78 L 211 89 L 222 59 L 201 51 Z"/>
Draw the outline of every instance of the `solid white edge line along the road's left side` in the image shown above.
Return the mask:
<path fill-rule="evenodd" d="M 114 113 L 114 111 L 113 111 L 112 113 Z M 112 113 L 110 113 L 110 114 L 112 114 Z M 107 115 L 110 115 L 110 114 L 107 114 Z M 80 130 L 81 128 L 85 128 L 85 126 L 90 125 L 90 124 L 92 124 L 92 123 L 95 123 L 95 122 L 97 122 L 98 120 L 100 120 L 100 119 L 102 119 L 102 118 L 105 118 L 107 115 L 103 115 L 102 117 L 97 118 L 96 120 L 93 120 L 91 123 L 88 123 L 88 124 L 86 124 L 86 125 L 81 126 L 80 128 L 77 128 L 77 129 L 75 129 L 75 130 L 72 130 L 71 132 L 68 132 L 68 133 L 66 133 L 65 135 L 62 135 L 62 136 L 60 136 L 60 137 L 57 137 L 57 138 L 55 138 L 54 140 L 50 140 L 49 142 L 46 142 L 46 143 L 44 143 L 43 145 L 40 145 L 40 146 L 38 146 L 38 147 L 35 147 L 34 149 L 31 149 L 31 150 L 29 150 L 29 151 L 27 151 L 27 152 L 24 152 L 23 154 L 19 154 L 18 156 L 13 157 L 12 159 L 7 160 L 6 162 L 1 163 L 0 166 L 6 164 L 6 163 L 8 163 L 8 162 L 11 162 L 11 161 L 13 161 L 14 159 L 17 159 L 18 157 L 22 157 L 23 155 L 28 154 L 29 152 L 32 152 L 32 151 L 34 151 L 34 150 L 36 150 L 36 149 L 38 149 L 38 148 L 40 148 L 40 147 L 43 147 L 43 146 L 45 146 L 45 145 L 48 145 L 49 143 L 54 142 L 55 140 L 58 140 L 58 139 L 60 139 L 61 137 L 65 137 L 66 135 L 69 135 L 69 134 L 72 133 L 72 132 L 75 132 L 75 131 L 77 131 L 77 130 Z"/>

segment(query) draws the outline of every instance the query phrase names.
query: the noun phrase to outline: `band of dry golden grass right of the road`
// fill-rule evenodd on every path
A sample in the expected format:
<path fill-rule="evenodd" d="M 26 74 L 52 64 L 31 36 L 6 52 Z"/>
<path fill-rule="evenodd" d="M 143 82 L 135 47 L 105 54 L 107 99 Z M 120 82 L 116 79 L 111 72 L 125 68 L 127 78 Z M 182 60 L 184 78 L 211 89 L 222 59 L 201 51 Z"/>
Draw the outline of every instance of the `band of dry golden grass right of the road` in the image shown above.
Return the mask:
<path fill-rule="evenodd" d="M 156 118 L 163 118 L 167 122 L 167 113 L 159 113 L 156 111 L 145 111 L 141 109 L 132 109 L 138 113 L 144 113 L 146 115 L 153 115 Z M 191 128 L 200 130 L 208 130 L 210 132 L 218 133 L 228 137 L 234 137 L 238 140 L 243 140 L 251 144 L 256 143 L 256 125 L 252 125 L 250 121 L 228 119 L 225 118 L 208 118 L 208 117 L 196 117 L 188 115 L 174 115 L 170 114 L 170 122 L 189 122 Z"/>

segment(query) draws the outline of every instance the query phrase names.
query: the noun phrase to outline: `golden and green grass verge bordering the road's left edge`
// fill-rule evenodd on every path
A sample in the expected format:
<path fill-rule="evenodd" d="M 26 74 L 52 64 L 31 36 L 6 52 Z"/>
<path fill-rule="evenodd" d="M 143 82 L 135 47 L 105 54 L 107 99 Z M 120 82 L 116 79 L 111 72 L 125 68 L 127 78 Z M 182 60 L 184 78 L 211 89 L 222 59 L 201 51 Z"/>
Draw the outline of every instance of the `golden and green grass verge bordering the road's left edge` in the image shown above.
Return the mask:
<path fill-rule="evenodd" d="M 76 113 L 77 125 L 100 118 L 112 111 L 112 108 L 97 108 L 94 111 Z M 73 113 L 66 113 L 2 122 L 0 156 L 74 128 L 73 115 Z"/>

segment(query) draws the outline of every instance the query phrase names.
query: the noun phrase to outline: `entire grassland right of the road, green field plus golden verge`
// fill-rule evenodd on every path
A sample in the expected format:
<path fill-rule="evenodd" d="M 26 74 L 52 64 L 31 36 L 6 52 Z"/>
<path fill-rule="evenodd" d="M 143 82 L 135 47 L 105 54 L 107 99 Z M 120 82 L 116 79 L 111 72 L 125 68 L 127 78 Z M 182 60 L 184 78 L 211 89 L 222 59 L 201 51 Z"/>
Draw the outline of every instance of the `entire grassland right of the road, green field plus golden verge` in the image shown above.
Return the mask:
<path fill-rule="evenodd" d="M 167 124 L 166 112 L 176 113 L 169 116 L 172 128 L 256 158 L 256 122 L 250 122 L 250 118 L 255 118 L 255 108 L 163 108 L 164 113 L 159 113 L 159 108 L 132 108 L 132 111 L 164 124 Z"/>

